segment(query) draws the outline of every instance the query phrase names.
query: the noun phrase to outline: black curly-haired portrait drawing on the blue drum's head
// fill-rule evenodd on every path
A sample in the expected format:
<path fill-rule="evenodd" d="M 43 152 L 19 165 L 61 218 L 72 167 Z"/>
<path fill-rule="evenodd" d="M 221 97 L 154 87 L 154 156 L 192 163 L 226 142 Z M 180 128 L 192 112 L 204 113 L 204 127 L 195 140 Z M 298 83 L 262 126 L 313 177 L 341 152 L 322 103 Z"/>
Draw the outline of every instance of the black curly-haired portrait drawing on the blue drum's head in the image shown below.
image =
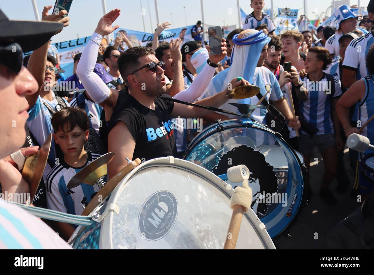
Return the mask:
<path fill-rule="evenodd" d="M 226 174 L 227 169 L 232 166 L 243 164 L 248 167 L 251 172 L 248 184 L 252 188 L 253 195 L 251 208 L 257 216 L 266 216 L 270 202 L 264 203 L 263 194 L 270 197 L 275 195 L 278 190 L 278 180 L 273 166 L 265 161 L 264 155 L 252 147 L 242 145 L 223 153 L 219 159 L 218 165 L 212 169 L 216 175 Z"/>

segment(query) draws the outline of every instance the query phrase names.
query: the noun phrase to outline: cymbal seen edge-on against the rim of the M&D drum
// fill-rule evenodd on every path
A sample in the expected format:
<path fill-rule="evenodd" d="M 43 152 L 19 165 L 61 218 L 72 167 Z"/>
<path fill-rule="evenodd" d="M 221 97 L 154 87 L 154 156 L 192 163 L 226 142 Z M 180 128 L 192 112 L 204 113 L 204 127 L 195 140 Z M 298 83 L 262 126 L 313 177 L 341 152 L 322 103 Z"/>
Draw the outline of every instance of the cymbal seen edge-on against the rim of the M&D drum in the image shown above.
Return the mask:
<path fill-rule="evenodd" d="M 113 192 L 114 188 L 116 188 L 120 181 L 139 164 L 141 164 L 141 160 L 135 159 L 130 164 L 122 168 L 122 170 L 119 171 L 116 175 L 114 175 L 91 199 L 85 210 L 83 210 L 81 216 L 89 215 L 93 210 L 95 210 L 96 207 L 101 205 L 102 202 L 104 202 L 105 199 L 107 199 L 108 196 Z"/>

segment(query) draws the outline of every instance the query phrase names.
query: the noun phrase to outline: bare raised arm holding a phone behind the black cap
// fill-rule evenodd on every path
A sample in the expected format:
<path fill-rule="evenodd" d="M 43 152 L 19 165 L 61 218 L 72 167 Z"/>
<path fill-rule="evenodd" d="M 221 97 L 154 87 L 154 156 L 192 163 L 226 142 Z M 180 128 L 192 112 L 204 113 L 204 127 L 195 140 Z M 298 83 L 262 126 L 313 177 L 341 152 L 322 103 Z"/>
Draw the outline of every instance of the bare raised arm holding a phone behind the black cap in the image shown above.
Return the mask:
<path fill-rule="evenodd" d="M 64 17 L 61 18 L 62 15 L 67 15 L 66 10 L 61 10 L 58 15 L 50 14 L 48 15 L 48 11 L 52 9 L 52 6 L 45 6 L 42 12 L 42 20 L 43 21 L 52 21 L 57 23 L 62 23 L 64 25 L 61 25 L 61 30 L 58 31 L 55 34 L 58 34 L 62 31 L 63 27 L 66 27 L 69 25 L 69 18 Z M 34 106 L 36 103 L 36 100 L 39 96 L 40 89 L 43 86 L 44 77 L 45 77 L 45 68 L 46 68 L 46 62 L 47 62 L 47 53 L 48 53 L 48 42 L 40 47 L 39 49 L 36 49 L 33 51 L 33 53 L 30 56 L 30 60 L 27 64 L 27 69 L 30 71 L 30 73 L 35 77 L 39 89 L 36 93 L 32 95 L 27 95 L 26 100 L 27 103 L 30 105 L 30 107 Z"/>

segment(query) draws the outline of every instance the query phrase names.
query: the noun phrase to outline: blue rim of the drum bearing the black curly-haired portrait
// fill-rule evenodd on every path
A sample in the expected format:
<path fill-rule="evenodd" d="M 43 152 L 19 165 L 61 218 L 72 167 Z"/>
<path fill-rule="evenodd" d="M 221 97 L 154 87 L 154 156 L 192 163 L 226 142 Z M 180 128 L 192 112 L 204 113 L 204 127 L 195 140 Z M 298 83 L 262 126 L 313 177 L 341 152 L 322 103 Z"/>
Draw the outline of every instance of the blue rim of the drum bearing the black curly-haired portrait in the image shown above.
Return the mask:
<path fill-rule="evenodd" d="M 252 123 L 245 123 L 245 124 L 243 124 L 239 119 L 230 119 L 230 120 L 225 120 L 223 122 L 214 123 L 213 125 L 211 125 L 208 128 L 206 128 L 205 131 L 202 131 L 198 135 L 196 135 L 196 137 L 193 138 L 193 140 L 190 142 L 190 144 L 188 144 L 187 149 L 186 149 L 186 151 L 183 154 L 183 159 L 186 159 L 191 154 L 191 152 L 193 151 L 193 149 L 198 144 L 200 144 L 201 141 L 205 140 L 207 137 L 209 137 L 209 136 L 211 136 L 213 134 L 216 134 L 218 132 L 218 130 L 217 130 L 218 124 L 219 125 L 229 124 L 222 131 L 227 130 L 227 129 L 231 129 L 231 128 L 236 128 L 237 126 L 239 126 L 239 127 L 242 127 L 242 128 L 256 128 L 256 129 L 259 129 L 260 131 L 262 130 L 262 131 L 268 132 L 268 133 L 272 134 L 275 138 L 278 138 L 280 141 L 282 141 L 282 143 L 285 144 L 286 147 L 288 147 L 289 150 L 291 150 L 292 154 L 296 158 L 297 163 L 298 163 L 298 165 L 300 167 L 301 180 L 302 180 L 302 183 L 301 183 L 301 185 L 302 185 L 301 199 L 300 199 L 299 207 L 297 208 L 296 213 L 293 215 L 293 217 L 292 217 L 291 221 L 288 223 L 288 225 L 286 227 L 284 227 L 281 231 L 279 231 L 278 233 L 276 233 L 272 237 L 272 239 L 278 239 L 279 236 L 281 236 L 281 234 L 283 232 L 285 232 L 285 230 L 287 228 L 289 228 L 294 223 L 294 221 L 296 220 L 295 218 L 298 216 L 298 214 L 300 213 L 300 210 L 301 210 L 301 208 L 303 206 L 304 194 L 305 194 L 305 192 L 304 192 L 304 174 L 306 172 L 305 171 L 306 167 L 304 165 L 304 163 L 305 163 L 304 156 L 301 154 L 301 156 L 303 156 L 303 159 L 304 159 L 304 163 L 301 163 L 300 159 L 298 158 L 298 155 L 296 154 L 296 150 L 293 149 L 288 144 L 288 142 L 282 137 L 281 134 L 279 134 L 278 132 L 274 132 L 267 125 L 263 125 L 263 124 L 261 124 L 261 123 L 259 123 L 257 121 L 254 121 L 254 120 L 252 120 Z M 219 132 L 222 132 L 222 131 L 219 131 Z"/>

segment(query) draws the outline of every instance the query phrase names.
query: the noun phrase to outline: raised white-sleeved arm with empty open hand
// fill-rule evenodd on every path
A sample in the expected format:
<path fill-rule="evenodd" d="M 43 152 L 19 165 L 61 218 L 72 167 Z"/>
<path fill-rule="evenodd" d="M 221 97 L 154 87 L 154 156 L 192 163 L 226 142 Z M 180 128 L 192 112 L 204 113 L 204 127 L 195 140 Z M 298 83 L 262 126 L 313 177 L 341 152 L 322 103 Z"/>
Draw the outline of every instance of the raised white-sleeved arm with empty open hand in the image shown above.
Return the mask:
<path fill-rule="evenodd" d="M 93 101 L 99 103 L 105 109 L 105 116 L 108 118 L 113 112 L 118 98 L 118 91 L 108 88 L 102 79 L 93 72 L 96 64 L 97 53 L 100 47 L 100 42 L 105 35 L 112 33 L 119 28 L 118 25 L 112 27 L 111 25 L 120 15 L 120 10 L 115 9 L 104 15 L 91 39 L 87 43 L 82 56 L 77 66 L 77 75 L 82 81 L 83 86 L 92 98 Z"/>

